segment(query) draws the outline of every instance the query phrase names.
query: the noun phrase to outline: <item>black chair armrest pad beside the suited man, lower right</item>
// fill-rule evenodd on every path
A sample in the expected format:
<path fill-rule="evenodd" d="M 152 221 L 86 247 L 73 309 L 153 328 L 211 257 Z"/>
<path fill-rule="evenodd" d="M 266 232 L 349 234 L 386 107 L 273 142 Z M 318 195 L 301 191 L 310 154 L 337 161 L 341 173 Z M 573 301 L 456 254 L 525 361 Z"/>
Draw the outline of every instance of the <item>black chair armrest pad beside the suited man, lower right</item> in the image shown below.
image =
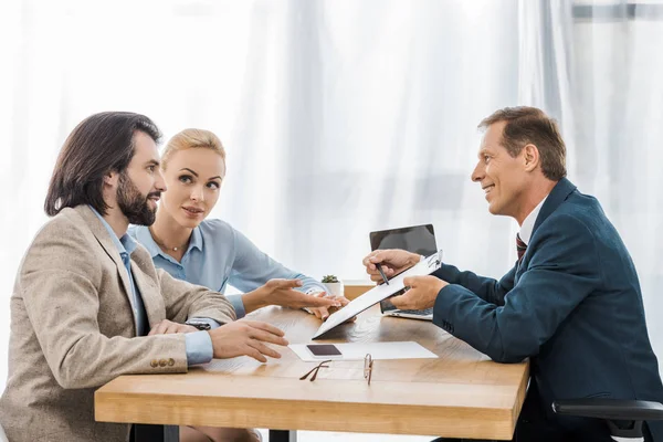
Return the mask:
<path fill-rule="evenodd" d="M 557 414 L 621 421 L 663 420 L 663 404 L 609 398 L 569 399 L 552 402 Z"/>

